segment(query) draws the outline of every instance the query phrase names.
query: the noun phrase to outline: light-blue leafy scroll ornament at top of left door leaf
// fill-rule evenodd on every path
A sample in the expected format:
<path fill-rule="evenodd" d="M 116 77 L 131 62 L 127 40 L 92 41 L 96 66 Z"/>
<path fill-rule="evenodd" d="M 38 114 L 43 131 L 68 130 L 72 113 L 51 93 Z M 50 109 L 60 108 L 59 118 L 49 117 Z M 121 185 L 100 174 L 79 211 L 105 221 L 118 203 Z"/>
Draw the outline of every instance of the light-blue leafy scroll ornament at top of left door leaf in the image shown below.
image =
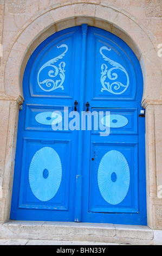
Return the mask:
<path fill-rule="evenodd" d="M 59 68 L 57 68 L 57 66 L 54 65 L 54 63 L 56 63 L 59 59 L 62 59 L 66 52 L 68 51 L 68 46 L 67 45 L 61 45 L 61 46 L 57 46 L 57 48 L 66 48 L 66 50 L 59 56 L 49 60 L 47 63 L 45 63 L 40 70 L 38 71 L 38 75 L 37 75 L 37 82 L 38 82 L 38 86 L 44 91 L 44 92 L 52 92 L 53 90 L 56 90 L 58 88 L 61 88 L 62 90 L 64 90 L 63 87 L 63 82 L 65 79 L 65 75 L 64 75 L 64 67 L 66 65 L 65 62 L 61 62 L 59 64 Z M 40 74 L 41 71 L 47 67 L 50 67 L 51 70 L 48 71 L 48 76 L 49 78 L 40 81 Z M 54 78 L 59 75 L 60 79 L 58 80 L 54 80 Z M 44 85 L 44 86 L 43 86 Z"/>

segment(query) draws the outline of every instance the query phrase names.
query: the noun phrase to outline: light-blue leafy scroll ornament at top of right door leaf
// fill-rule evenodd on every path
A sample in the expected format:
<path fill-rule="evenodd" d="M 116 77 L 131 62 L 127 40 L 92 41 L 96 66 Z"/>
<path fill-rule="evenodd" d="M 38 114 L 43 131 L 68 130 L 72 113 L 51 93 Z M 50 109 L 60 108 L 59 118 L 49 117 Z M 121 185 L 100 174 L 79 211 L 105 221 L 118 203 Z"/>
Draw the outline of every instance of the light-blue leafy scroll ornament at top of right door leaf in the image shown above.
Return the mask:
<path fill-rule="evenodd" d="M 108 57 L 106 57 L 105 54 L 103 54 L 103 52 L 102 52 L 103 50 L 111 51 L 112 49 L 107 48 L 106 46 L 102 46 L 100 48 L 100 53 L 101 53 L 103 59 L 105 59 L 106 62 L 111 64 L 113 66 L 113 68 L 108 69 L 108 66 L 105 63 L 103 63 L 101 65 L 101 70 L 102 70 L 102 72 L 101 72 L 101 84 L 102 84 L 101 92 L 103 93 L 103 90 L 106 90 L 106 91 L 108 91 L 109 93 L 112 93 L 112 94 L 116 94 L 116 95 L 122 94 L 129 87 L 129 76 L 127 74 L 127 71 L 125 70 L 125 68 L 121 64 L 119 64 L 117 62 L 114 62 L 114 60 L 109 59 Z M 116 74 L 116 72 L 113 72 L 114 70 L 121 70 L 122 72 L 125 73 L 126 78 L 127 78 L 127 84 L 123 84 L 119 81 L 115 81 L 115 80 L 118 79 L 118 74 Z M 113 82 L 113 83 L 106 82 L 107 77 L 108 77 L 109 80 L 112 80 L 112 81 L 115 81 L 115 82 Z M 121 90 L 121 87 L 123 88 L 122 90 Z"/>

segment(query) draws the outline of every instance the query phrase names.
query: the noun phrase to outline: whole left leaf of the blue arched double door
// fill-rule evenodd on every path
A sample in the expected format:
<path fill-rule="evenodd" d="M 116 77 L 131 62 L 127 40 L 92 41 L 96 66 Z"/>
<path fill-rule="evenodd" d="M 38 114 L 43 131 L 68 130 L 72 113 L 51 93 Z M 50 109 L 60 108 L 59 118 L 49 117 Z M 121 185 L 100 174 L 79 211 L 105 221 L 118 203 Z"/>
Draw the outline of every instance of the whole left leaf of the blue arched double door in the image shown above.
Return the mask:
<path fill-rule="evenodd" d="M 74 221 L 78 134 L 65 124 L 53 131 L 51 121 L 64 119 L 64 107 L 74 110 L 79 99 L 81 42 L 81 27 L 58 32 L 36 48 L 25 69 L 12 220 Z"/>

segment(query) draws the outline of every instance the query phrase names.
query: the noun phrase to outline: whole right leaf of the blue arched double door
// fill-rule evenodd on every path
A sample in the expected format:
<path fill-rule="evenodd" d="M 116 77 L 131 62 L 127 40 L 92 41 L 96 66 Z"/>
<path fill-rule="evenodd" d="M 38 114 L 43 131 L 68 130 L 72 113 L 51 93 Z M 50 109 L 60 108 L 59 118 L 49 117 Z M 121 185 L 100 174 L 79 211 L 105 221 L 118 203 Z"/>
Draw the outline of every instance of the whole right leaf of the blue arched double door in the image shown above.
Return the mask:
<path fill-rule="evenodd" d="M 93 27 L 88 27 L 86 60 L 85 101 L 90 103 L 90 111 L 109 111 L 112 118 L 109 136 L 100 136 L 100 130 L 85 132 L 82 221 L 146 225 L 145 119 L 139 118 L 143 92 L 140 64 L 124 41 Z M 122 156 L 122 162 L 112 162 L 112 157 L 105 159 L 113 152 Z M 118 169 L 122 170 L 120 174 Z M 122 185 L 117 186 L 118 182 Z"/>

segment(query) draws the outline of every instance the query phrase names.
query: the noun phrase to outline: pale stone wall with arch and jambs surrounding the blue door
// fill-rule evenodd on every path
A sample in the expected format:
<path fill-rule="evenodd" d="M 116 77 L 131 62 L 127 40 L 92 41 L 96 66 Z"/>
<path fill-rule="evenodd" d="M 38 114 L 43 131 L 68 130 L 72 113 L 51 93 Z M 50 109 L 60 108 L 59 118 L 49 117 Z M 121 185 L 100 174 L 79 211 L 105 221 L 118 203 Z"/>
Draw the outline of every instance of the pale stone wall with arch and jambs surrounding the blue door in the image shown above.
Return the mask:
<path fill-rule="evenodd" d="M 10 212 L 25 64 L 47 36 L 82 22 L 120 36 L 140 61 L 145 82 L 148 225 L 162 229 L 161 0 L 0 0 L 0 221 L 8 220 Z"/>

